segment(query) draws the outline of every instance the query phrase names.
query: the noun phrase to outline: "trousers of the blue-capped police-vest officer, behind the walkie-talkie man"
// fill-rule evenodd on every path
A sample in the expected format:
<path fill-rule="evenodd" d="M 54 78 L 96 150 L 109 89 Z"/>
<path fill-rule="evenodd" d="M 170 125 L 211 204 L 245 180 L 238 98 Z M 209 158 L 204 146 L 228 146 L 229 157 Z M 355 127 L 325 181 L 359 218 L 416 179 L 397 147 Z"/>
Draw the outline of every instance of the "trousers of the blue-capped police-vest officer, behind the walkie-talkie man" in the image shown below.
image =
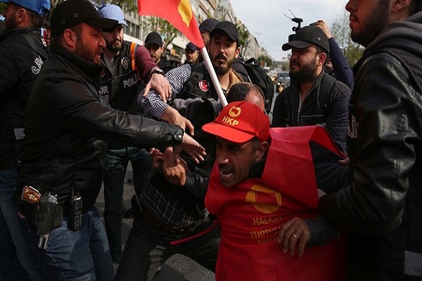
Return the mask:
<path fill-rule="evenodd" d="M 104 221 L 113 263 L 122 259 L 122 197 L 127 164 L 132 163 L 135 192 L 141 194 L 152 158 L 145 149 L 122 148 L 108 150 L 104 171 Z"/>

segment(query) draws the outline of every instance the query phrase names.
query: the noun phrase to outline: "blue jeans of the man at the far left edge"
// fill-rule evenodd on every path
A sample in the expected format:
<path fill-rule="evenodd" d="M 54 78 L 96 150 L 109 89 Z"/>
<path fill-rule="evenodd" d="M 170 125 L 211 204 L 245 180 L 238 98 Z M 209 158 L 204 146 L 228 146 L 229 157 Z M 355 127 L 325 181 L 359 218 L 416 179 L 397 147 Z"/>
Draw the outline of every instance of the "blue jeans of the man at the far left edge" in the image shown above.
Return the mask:
<path fill-rule="evenodd" d="M 22 235 L 18 206 L 12 202 L 17 178 L 18 169 L 0 169 L 0 278 L 3 281 L 29 280 L 30 273 L 34 280 L 45 280 L 35 248 L 28 237 Z"/>

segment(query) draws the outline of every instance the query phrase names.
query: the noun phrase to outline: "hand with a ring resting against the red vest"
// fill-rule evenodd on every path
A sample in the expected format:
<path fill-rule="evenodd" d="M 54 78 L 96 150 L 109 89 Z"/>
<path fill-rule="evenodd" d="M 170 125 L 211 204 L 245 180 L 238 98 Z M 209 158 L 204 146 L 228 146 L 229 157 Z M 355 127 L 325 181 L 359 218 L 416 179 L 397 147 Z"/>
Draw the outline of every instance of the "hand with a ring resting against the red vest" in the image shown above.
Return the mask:
<path fill-rule="evenodd" d="M 305 252 L 306 243 L 309 241 L 310 233 L 306 221 L 303 218 L 294 217 L 281 226 L 277 241 L 283 244 L 283 251 L 295 254 L 298 245 L 298 255 Z"/>

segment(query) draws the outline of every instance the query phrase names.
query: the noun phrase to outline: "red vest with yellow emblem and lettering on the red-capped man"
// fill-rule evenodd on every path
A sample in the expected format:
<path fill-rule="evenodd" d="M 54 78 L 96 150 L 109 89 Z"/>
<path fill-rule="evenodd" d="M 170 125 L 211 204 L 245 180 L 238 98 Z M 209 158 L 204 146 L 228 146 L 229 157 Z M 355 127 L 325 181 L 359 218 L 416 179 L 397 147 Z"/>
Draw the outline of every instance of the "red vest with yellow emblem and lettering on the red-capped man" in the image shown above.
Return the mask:
<path fill-rule="evenodd" d="M 282 223 L 318 212 L 309 141 L 342 155 L 340 150 L 319 126 L 274 128 L 270 133 L 261 179 L 226 188 L 219 181 L 218 166 L 212 170 L 205 204 L 221 226 L 216 280 L 345 280 L 344 237 L 307 247 L 302 257 L 284 253 L 276 240 Z"/>

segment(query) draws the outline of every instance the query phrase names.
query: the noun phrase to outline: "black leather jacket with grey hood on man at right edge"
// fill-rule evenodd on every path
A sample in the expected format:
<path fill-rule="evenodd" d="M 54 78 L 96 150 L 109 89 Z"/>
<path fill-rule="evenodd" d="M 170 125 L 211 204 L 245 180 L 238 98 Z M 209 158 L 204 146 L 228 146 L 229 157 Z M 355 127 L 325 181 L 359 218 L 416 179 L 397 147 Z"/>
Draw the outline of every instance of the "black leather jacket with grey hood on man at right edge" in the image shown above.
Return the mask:
<path fill-rule="evenodd" d="M 350 280 L 422 278 L 421 30 L 422 12 L 390 23 L 354 68 L 352 185 L 320 200 L 352 233 Z"/>

